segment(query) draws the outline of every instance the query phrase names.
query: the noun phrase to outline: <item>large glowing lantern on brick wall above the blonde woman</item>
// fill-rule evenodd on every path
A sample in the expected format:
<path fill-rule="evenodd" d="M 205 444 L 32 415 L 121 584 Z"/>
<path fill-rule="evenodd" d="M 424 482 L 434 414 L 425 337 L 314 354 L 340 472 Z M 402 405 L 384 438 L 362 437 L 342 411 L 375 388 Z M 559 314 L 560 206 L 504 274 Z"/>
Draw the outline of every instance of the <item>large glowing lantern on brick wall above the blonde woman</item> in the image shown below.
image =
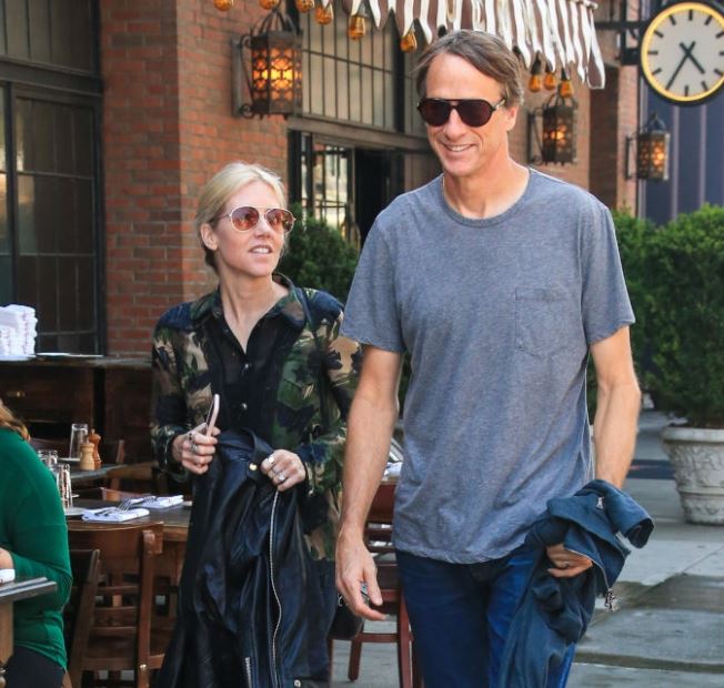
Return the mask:
<path fill-rule="evenodd" d="M 232 39 L 231 48 L 235 115 L 289 117 L 301 110 L 302 39 L 286 14 L 272 10 L 250 33 Z M 251 102 L 244 99 L 244 85 Z"/>

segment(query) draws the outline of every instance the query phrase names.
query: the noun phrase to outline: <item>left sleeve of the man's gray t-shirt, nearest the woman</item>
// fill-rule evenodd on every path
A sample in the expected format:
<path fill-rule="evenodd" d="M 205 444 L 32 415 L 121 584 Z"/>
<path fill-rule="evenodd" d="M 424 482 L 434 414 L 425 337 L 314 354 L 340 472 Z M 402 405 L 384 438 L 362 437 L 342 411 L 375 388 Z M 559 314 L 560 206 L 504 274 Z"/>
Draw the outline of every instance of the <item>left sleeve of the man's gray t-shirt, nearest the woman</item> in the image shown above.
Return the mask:
<path fill-rule="evenodd" d="M 395 262 L 378 222 L 362 250 L 341 332 L 360 344 L 402 353 L 405 345 L 400 328 Z"/>

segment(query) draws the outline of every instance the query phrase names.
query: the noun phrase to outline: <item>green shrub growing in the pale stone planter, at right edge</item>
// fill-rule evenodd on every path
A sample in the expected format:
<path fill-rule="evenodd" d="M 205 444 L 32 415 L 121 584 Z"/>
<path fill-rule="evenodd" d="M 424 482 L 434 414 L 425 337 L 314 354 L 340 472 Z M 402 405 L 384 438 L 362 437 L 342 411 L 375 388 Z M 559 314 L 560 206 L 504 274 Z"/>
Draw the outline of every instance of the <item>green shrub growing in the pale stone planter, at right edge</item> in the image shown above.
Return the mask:
<path fill-rule="evenodd" d="M 724 208 L 705 205 L 654 232 L 645 277 L 656 407 L 724 427 Z"/>

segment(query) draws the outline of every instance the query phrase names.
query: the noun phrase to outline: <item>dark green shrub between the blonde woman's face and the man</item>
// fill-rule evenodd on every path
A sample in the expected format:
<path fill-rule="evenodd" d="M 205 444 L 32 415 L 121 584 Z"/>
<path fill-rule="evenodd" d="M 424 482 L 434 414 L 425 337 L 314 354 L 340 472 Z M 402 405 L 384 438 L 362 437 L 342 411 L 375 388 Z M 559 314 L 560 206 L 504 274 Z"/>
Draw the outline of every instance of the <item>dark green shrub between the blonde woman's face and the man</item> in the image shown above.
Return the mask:
<path fill-rule="evenodd" d="M 302 217 L 301 206 L 292 212 Z M 325 222 L 298 220 L 289 235 L 279 270 L 298 286 L 323 290 L 345 302 L 352 285 L 358 251 Z"/>

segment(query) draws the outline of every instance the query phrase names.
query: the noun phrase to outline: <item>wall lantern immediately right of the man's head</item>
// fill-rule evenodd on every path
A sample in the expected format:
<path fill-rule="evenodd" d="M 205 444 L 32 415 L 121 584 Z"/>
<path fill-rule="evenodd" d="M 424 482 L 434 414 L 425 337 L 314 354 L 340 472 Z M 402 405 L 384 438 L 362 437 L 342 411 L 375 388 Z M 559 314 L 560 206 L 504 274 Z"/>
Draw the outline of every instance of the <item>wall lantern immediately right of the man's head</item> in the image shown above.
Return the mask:
<path fill-rule="evenodd" d="M 562 95 L 562 92 L 564 90 L 559 85 L 557 92 L 542 108 L 529 112 L 529 162 L 565 164 L 576 160 L 579 105 L 573 95 Z"/>

